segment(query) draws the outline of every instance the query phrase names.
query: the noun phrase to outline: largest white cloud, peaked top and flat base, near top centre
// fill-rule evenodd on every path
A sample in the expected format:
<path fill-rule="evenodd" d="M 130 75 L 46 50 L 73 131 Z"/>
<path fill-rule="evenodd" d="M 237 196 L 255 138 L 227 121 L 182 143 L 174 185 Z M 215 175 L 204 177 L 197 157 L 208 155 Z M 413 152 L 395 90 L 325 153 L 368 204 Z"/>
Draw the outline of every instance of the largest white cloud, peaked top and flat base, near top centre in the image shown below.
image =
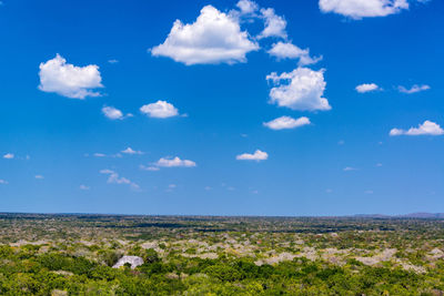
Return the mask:
<path fill-rule="evenodd" d="M 152 48 L 151 54 L 188 65 L 214 64 L 245 62 L 245 54 L 258 49 L 248 32 L 241 31 L 236 18 L 206 6 L 194 23 L 176 20 L 167 40 Z"/>

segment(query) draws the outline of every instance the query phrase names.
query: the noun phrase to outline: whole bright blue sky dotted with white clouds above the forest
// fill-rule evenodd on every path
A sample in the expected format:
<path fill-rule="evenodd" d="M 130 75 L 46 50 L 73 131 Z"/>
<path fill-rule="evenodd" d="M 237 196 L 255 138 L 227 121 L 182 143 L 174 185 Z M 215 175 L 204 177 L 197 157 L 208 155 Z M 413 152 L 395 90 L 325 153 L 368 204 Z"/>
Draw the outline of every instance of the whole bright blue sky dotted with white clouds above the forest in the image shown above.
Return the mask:
<path fill-rule="evenodd" d="M 443 12 L 3 0 L 0 211 L 443 212 Z"/>

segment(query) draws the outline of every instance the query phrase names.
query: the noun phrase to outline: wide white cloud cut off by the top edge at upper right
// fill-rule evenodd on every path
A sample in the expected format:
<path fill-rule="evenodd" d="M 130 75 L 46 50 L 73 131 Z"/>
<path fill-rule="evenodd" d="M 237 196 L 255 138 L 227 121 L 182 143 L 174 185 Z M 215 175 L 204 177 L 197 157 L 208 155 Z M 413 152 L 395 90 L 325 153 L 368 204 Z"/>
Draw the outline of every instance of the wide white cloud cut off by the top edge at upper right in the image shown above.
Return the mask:
<path fill-rule="evenodd" d="M 407 0 L 320 0 L 322 12 L 334 12 L 359 20 L 385 17 L 408 9 Z"/>

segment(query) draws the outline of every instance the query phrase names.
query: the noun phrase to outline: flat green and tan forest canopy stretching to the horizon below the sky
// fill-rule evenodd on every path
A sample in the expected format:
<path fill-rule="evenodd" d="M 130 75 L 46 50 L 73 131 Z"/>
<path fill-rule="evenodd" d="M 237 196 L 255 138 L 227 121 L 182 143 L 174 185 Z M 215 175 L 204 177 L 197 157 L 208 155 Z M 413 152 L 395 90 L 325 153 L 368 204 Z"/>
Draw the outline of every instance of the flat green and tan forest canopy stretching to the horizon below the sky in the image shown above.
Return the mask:
<path fill-rule="evenodd" d="M 0 243 L 2 295 L 444 290 L 443 220 L 1 214 Z"/>

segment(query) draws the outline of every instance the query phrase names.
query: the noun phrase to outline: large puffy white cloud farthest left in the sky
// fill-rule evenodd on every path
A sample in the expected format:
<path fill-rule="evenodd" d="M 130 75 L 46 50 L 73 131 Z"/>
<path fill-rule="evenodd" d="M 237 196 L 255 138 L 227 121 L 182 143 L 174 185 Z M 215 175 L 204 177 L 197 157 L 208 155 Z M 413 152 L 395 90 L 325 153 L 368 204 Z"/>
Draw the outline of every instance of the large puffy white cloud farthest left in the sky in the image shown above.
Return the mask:
<path fill-rule="evenodd" d="M 99 67 L 90 64 L 77 67 L 57 54 L 54 59 L 40 64 L 40 85 L 44 92 L 54 92 L 71 99 L 98 96 L 97 88 L 103 88 Z"/>

